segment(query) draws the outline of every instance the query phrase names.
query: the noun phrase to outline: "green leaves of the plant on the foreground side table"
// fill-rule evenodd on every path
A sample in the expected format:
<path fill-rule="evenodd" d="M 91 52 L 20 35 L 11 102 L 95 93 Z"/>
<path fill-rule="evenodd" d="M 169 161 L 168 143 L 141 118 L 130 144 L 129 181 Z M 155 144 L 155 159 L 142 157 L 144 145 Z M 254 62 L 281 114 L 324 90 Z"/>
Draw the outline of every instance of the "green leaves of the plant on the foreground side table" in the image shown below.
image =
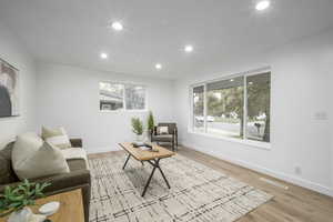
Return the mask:
<path fill-rule="evenodd" d="M 0 218 L 20 211 L 24 206 L 34 205 L 34 200 L 43 198 L 43 190 L 49 185 L 51 184 L 24 180 L 18 186 L 6 186 L 4 193 L 0 194 Z"/>

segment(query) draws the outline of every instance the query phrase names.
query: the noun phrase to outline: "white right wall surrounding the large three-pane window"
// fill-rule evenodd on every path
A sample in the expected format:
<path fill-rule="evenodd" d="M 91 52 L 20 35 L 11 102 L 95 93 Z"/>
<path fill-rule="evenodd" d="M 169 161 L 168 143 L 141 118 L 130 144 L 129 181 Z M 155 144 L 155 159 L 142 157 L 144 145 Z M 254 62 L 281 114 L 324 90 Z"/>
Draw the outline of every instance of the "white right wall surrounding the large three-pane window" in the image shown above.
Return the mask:
<path fill-rule="evenodd" d="M 230 160 L 284 180 L 327 193 L 333 186 L 332 65 L 333 32 L 297 40 L 279 49 L 239 58 L 215 74 L 202 73 L 176 83 L 176 120 L 181 142 L 193 149 Z M 189 85 L 246 70 L 272 67 L 271 150 L 188 132 Z M 327 120 L 316 120 L 326 112 Z M 294 168 L 300 165 L 302 174 Z"/>

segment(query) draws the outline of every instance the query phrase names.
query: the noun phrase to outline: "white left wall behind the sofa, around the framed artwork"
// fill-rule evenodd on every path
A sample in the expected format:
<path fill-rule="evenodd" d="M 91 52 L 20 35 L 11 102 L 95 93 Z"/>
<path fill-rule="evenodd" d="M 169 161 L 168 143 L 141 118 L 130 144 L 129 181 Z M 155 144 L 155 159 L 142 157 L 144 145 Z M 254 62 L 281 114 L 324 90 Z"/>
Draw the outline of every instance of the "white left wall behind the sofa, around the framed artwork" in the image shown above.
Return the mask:
<path fill-rule="evenodd" d="M 20 117 L 0 118 L 0 149 L 18 133 L 34 130 L 36 70 L 33 59 L 0 22 L 0 58 L 20 70 Z"/>

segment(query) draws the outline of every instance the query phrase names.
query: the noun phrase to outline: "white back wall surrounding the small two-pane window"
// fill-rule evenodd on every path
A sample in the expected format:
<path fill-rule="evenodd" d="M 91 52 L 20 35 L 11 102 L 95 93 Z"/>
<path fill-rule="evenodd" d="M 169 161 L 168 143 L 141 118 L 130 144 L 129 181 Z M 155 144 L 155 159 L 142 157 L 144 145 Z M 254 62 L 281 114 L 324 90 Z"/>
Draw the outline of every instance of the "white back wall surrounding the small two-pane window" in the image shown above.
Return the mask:
<path fill-rule="evenodd" d="M 147 112 L 99 111 L 99 82 L 142 83 L 148 87 L 148 108 L 157 121 L 173 121 L 173 84 L 170 80 L 99 72 L 69 65 L 38 64 L 38 123 L 63 125 L 71 137 L 83 139 L 88 152 L 119 149 L 132 141 L 131 117 Z M 145 123 L 145 118 L 144 118 Z"/>

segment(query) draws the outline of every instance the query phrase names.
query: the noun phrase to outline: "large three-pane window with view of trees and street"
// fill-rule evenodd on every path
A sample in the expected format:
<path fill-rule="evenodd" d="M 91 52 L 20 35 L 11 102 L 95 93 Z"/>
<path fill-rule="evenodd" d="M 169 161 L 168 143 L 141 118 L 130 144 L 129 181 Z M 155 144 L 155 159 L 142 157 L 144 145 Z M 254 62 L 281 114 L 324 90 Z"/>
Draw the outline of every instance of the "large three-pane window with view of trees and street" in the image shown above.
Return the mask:
<path fill-rule="evenodd" d="M 192 87 L 193 131 L 270 142 L 271 72 Z"/>

